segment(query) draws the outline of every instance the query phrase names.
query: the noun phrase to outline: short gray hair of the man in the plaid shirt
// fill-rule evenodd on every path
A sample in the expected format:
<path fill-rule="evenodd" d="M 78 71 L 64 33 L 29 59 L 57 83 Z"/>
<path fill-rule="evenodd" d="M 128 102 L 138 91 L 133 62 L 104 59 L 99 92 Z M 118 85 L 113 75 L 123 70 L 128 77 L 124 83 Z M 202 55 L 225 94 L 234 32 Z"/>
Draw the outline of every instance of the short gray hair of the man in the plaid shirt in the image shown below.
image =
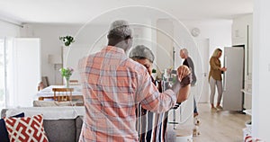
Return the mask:
<path fill-rule="evenodd" d="M 118 20 L 115 22 L 112 22 L 110 26 L 110 31 L 108 34 L 108 38 L 121 38 L 124 40 L 127 40 L 131 37 L 132 31 L 130 29 L 129 22 Z"/>

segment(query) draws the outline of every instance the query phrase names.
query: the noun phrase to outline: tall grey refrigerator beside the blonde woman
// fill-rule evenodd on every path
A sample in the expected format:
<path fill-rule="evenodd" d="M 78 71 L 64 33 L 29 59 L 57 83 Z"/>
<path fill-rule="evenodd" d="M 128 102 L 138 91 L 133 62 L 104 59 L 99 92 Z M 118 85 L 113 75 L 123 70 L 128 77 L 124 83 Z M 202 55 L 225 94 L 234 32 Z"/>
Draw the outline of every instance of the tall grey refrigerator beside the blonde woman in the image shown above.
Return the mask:
<path fill-rule="evenodd" d="M 227 67 L 223 73 L 223 110 L 243 111 L 244 48 L 226 47 L 223 53 Z"/>

